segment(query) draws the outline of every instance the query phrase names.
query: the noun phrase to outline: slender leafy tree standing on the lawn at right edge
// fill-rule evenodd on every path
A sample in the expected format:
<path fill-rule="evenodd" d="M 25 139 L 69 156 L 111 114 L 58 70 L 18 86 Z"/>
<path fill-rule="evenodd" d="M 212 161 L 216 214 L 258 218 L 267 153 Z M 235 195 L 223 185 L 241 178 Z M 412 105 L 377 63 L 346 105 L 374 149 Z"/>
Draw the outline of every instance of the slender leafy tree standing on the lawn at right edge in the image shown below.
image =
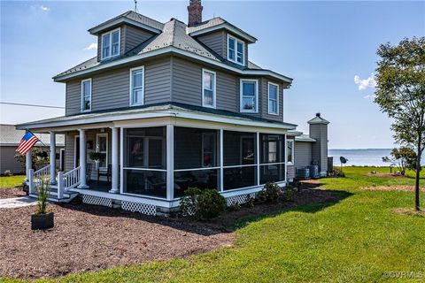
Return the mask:
<path fill-rule="evenodd" d="M 421 156 L 425 148 L 425 37 L 377 50 L 375 103 L 394 120 L 396 142 L 416 151 L 415 210 L 420 207 Z"/>

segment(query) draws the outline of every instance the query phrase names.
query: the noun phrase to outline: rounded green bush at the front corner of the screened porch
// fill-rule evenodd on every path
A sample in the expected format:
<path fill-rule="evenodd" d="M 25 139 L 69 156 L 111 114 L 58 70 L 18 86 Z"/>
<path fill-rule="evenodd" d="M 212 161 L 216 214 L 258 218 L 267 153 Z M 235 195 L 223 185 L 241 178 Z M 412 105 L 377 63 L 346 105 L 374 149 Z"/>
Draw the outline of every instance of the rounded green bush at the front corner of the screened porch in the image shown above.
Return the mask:
<path fill-rule="evenodd" d="M 215 189 L 189 187 L 184 195 L 180 203 L 183 216 L 211 219 L 226 210 L 226 199 Z"/>

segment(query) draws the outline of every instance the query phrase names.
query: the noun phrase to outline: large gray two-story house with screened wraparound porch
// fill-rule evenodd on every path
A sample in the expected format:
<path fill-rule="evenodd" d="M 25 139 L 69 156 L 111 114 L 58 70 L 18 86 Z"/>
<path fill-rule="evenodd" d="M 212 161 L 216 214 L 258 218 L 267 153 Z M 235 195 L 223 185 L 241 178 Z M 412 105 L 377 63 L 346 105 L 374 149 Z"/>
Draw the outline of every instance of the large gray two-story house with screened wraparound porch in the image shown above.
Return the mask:
<path fill-rule="evenodd" d="M 66 84 L 66 116 L 17 126 L 66 135 L 61 201 L 78 193 L 84 203 L 167 213 L 188 187 L 209 187 L 242 203 L 268 180 L 293 179 L 294 149 L 305 142 L 300 165 L 326 174 L 327 124 L 313 119 L 303 140 L 283 121 L 292 79 L 249 60 L 251 34 L 221 18 L 203 21 L 200 1 L 188 11 L 188 26 L 127 11 L 90 28 L 97 57 L 53 78 Z M 93 151 L 101 160 L 90 160 Z"/>

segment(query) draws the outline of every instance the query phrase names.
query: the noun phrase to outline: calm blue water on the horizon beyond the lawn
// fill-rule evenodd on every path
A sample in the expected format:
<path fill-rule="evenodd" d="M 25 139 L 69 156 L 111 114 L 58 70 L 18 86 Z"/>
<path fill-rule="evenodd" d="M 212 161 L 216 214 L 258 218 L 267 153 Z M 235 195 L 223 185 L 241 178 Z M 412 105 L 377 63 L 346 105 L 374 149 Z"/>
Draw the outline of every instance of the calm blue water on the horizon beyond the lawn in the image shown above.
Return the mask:
<path fill-rule="evenodd" d="M 345 165 L 389 166 L 383 157 L 390 157 L 391 149 L 329 149 L 328 156 L 334 157 L 334 165 L 340 165 L 339 157 L 345 157 Z"/>

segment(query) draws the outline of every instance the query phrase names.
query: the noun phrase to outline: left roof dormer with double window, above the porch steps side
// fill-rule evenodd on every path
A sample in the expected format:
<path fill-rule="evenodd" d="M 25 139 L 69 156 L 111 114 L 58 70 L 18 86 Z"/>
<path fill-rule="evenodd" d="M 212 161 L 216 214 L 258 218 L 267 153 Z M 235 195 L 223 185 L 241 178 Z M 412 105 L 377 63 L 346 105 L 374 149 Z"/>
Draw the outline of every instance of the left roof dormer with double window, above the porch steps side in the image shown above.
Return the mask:
<path fill-rule="evenodd" d="M 127 11 L 114 19 L 89 29 L 97 36 L 97 61 L 109 60 L 126 54 L 137 45 L 160 34 L 164 24 L 134 11 Z"/>

